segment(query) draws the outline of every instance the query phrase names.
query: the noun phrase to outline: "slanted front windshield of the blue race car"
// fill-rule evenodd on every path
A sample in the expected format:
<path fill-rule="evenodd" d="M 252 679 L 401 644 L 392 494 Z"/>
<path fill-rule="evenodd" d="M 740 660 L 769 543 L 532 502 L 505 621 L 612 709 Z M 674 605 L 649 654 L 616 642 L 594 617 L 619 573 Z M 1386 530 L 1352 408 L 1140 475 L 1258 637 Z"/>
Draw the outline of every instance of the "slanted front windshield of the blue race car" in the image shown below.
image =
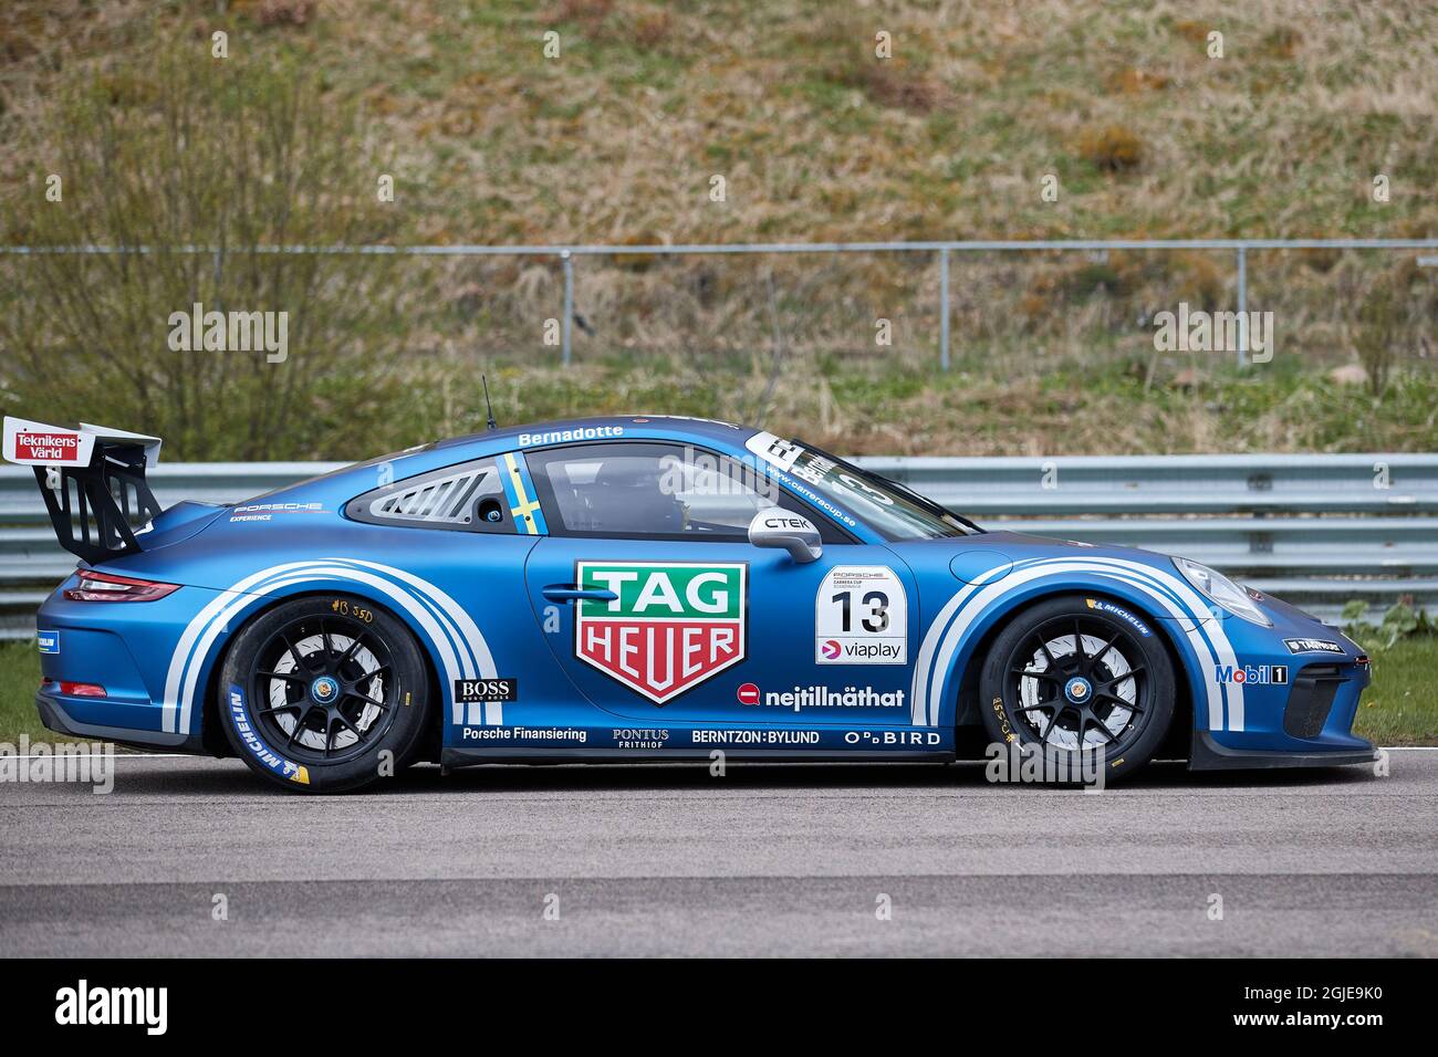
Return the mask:
<path fill-rule="evenodd" d="M 789 473 L 817 488 L 827 499 L 851 509 L 886 539 L 940 539 L 982 531 L 899 482 L 802 440 L 789 443 L 798 452 Z"/>

